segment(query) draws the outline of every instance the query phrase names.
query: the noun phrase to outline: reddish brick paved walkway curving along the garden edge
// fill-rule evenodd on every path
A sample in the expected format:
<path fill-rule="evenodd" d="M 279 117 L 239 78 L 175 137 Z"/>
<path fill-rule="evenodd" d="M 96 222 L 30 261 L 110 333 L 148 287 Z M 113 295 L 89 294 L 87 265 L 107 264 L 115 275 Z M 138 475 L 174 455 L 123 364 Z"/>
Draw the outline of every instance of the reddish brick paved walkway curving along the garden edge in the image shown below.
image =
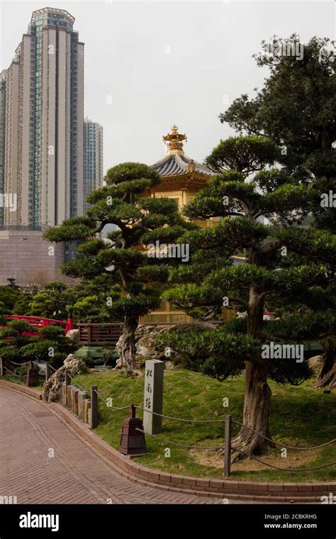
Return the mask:
<path fill-rule="evenodd" d="M 120 477 L 38 400 L 0 387 L 0 410 L 0 496 L 18 504 L 223 503 Z"/>

